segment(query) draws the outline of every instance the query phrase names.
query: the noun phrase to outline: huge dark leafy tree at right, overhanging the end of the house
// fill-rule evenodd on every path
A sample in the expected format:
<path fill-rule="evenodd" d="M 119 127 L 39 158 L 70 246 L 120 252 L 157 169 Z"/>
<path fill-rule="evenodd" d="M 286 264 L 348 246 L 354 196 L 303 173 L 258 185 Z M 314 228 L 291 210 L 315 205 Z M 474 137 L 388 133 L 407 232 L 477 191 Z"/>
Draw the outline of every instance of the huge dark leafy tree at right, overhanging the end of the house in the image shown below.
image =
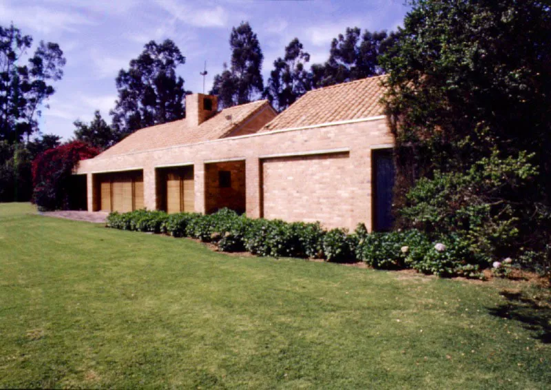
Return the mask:
<path fill-rule="evenodd" d="M 548 1 L 413 0 L 410 4 L 401 36 L 382 59 L 389 74 L 386 107 L 396 136 L 395 205 L 423 208 L 419 194 L 406 196 L 419 177 L 437 183 L 453 176 L 435 177 L 435 172 L 464 174 L 492 154 L 507 159 L 526 151 L 539 175 L 523 187 L 522 196 L 517 196 L 519 190 L 503 191 L 499 181 L 482 187 L 484 193 L 477 196 L 491 199 L 494 207 L 514 205 L 514 210 L 523 210 L 492 218 L 497 215 L 501 222 L 511 215 L 517 218 L 519 233 L 513 247 L 544 250 L 541 245 L 549 241 L 551 226 Z M 497 177 L 499 171 L 490 172 L 492 180 Z M 423 187 L 417 192 L 419 188 Z M 444 203 L 446 214 L 463 213 L 462 202 Z M 436 212 L 444 211 L 444 203 L 435 205 Z M 415 218 L 402 222 L 411 220 Z"/>

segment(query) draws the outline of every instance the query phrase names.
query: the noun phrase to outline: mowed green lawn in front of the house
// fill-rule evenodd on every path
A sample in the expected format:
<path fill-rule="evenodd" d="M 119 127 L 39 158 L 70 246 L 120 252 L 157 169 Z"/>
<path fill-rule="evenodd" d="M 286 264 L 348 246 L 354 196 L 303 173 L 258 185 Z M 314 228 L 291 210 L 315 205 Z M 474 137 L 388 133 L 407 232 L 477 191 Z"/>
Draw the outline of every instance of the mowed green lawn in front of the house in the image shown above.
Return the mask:
<path fill-rule="evenodd" d="M 0 387 L 549 389 L 543 293 L 499 283 L 227 256 L 4 204 Z"/>

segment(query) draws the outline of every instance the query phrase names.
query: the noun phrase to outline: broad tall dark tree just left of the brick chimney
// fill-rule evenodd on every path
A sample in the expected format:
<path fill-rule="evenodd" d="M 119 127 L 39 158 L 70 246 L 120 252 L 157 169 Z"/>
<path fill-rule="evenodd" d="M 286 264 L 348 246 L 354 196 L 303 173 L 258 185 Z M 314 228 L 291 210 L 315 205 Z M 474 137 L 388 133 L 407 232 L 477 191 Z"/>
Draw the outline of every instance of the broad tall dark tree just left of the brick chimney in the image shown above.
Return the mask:
<path fill-rule="evenodd" d="M 178 65 L 185 63 L 180 49 L 170 39 L 150 41 L 129 69 L 116 77 L 118 100 L 113 126 L 122 134 L 143 127 L 182 119 L 185 116 L 184 79 L 176 76 Z"/>

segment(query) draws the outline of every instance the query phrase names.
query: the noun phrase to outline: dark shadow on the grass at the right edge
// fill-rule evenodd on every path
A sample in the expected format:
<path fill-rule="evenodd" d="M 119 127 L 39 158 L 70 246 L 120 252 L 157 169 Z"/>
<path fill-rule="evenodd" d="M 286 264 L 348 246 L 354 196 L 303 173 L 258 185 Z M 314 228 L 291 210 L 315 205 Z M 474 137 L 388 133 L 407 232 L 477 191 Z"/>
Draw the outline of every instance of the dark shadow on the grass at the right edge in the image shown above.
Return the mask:
<path fill-rule="evenodd" d="M 530 298 L 522 292 L 501 291 L 507 302 L 488 309 L 492 316 L 521 322 L 525 329 L 533 331 L 534 338 L 551 343 L 551 307 L 541 300 Z"/>

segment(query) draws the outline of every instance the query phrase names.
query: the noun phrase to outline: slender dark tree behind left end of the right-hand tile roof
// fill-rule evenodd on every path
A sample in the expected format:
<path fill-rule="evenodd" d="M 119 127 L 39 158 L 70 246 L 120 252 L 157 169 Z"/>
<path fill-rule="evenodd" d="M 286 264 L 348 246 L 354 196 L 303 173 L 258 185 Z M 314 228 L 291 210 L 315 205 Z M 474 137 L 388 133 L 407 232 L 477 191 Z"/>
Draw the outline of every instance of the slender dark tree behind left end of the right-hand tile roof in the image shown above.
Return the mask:
<path fill-rule="evenodd" d="M 285 48 L 285 56 L 273 61 L 273 70 L 264 90 L 264 96 L 279 111 L 285 110 L 300 96 L 311 90 L 311 78 L 304 64 L 310 61 L 310 54 L 304 51 L 298 38 Z"/>

